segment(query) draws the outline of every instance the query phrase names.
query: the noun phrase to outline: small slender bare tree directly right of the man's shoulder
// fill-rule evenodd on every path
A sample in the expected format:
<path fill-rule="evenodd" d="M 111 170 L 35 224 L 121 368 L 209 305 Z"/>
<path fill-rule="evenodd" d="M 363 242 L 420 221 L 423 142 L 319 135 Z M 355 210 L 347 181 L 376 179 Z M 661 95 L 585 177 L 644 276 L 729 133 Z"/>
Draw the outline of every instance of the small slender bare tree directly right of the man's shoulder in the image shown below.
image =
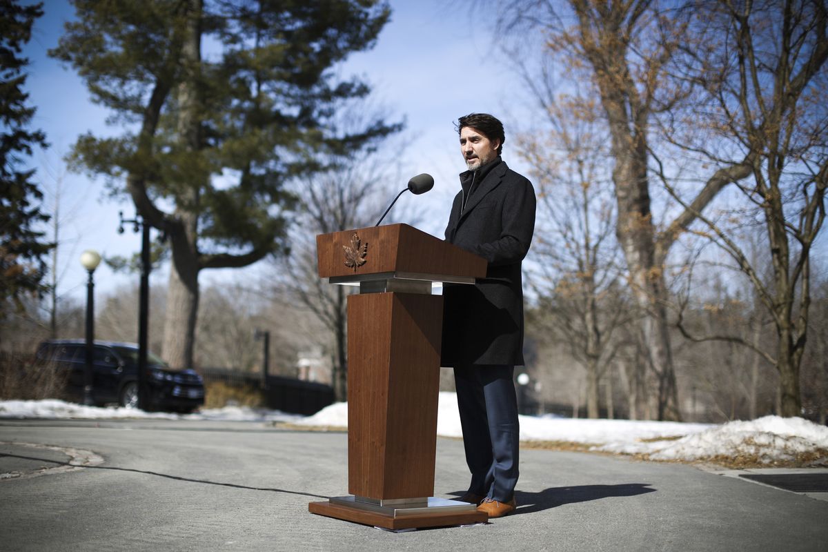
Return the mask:
<path fill-rule="evenodd" d="M 630 310 L 619 308 L 606 133 L 588 95 L 556 93 L 548 81 L 532 89 L 546 106 L 546 124 L 518 137 L 539 199 L 537 268 L 529 281 L 546 313 L 537 319 L 585 368 L 587 415 L 597 418 L 599 382 L 618 343 L 613 333 L 630 319 Z"/>

